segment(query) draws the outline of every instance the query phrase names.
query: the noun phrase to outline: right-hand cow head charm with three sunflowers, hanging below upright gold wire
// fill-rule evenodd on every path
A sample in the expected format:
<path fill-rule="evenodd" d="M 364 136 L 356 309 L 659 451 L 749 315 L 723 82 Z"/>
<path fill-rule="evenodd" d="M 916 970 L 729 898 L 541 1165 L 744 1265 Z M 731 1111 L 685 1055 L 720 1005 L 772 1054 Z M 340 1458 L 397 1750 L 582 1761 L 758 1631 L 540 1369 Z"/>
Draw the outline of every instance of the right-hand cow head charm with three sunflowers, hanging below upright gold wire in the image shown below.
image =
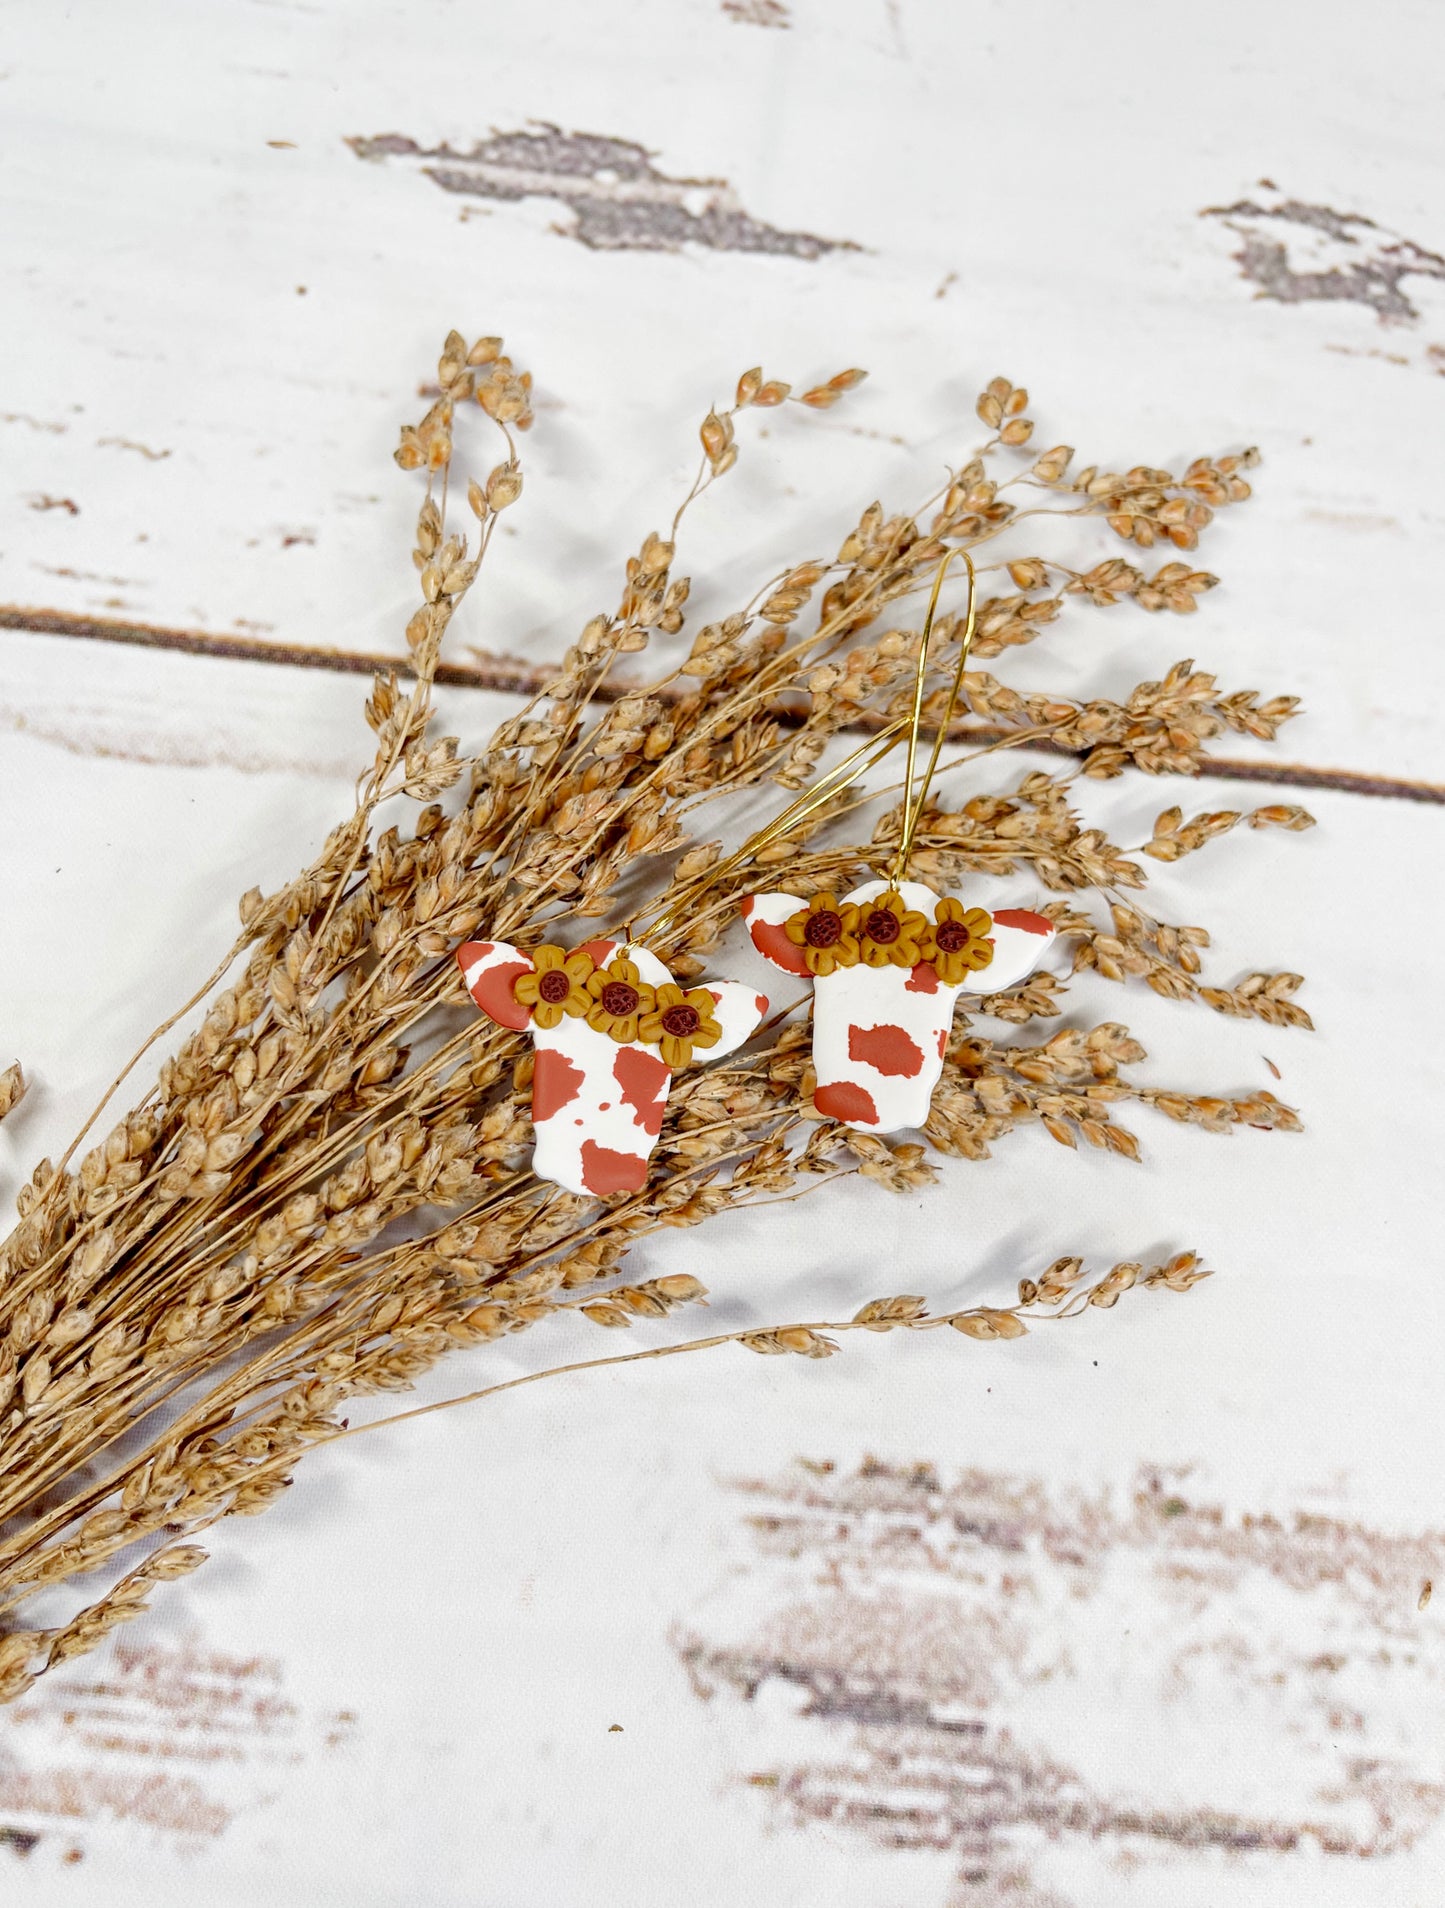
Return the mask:
<path fill-rule="evenodd" d="M 865 881 L 842 902 L 750 895 L 743 920 L 775 967 L 813 977 L 813 1105 L 865 1133 L 928 1120 L 958 996 L 1014 986 L 1054 941 L 1042 914 L 966 908 L 918 881 Z"/>

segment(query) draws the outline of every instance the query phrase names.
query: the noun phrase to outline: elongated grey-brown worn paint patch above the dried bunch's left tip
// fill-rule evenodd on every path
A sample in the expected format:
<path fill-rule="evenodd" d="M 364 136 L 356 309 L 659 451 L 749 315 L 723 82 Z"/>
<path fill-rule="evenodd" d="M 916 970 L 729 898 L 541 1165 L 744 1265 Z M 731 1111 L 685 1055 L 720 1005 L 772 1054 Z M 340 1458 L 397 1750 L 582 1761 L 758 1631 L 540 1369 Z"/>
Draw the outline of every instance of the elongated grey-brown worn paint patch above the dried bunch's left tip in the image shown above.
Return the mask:
<path fill-rule="evenodd" d="M 597 252 L 678 252 L 685 244 L 712 252 L 764 252 L 819 259 L 857 252 L 846 238 L 788 233 L 750 218 L 725 179 L 672 177 L 632 139 L 605 134 L 498 132 L 470 151 L 418 145 L 405 134 L 346 141 L 357 158 L 403 160 L 445 193 L 515 204 L 552 198 L 571 212 L 563 237 Z"/>

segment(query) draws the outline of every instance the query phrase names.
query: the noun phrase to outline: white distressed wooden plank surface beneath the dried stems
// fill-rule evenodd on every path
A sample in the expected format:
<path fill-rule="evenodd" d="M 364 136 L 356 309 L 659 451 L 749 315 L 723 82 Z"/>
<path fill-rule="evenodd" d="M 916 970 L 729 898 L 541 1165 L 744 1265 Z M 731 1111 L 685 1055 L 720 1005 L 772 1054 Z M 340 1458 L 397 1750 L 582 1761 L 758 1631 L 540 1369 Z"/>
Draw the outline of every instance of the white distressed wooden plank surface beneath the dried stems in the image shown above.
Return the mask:
<path fill-rule="evenodd" d="M 1187 647 L 1231 683 L 1306 695 L 1281 759 L 1445 782 L 1435 8 L 531 13 L 10 10 L 11 622 L 50 611 L 395 651 L 414 498 L 389 450 L 452 322 L 504 332 L 542 395 L 517 530 L 456 632 L 462 660 L 468 643 L 555 651 L 613 595 L 622 553 L 672 508 L 697 414 L 744 364 L 859 363 L 872 382 L 744 446 L 687 551 L 718 599 L 773 553 L 828 548 L 867 496 L 920 494 L 1002 370 L 1037 393 L 1040 431 L 1090 458 L 1266 452 L 1256 502 L 1206 557 L 1225 588 L 1187 630 L 1113 612 L 1038 658 L 1044 679 L 1126 685 Z M 531 189 L 548 185 L 534 166 L 525 197 L 479 197 L 439 189 L 439 160 L 346 143 L 470 153 L 538 124 L 645 147 L 632 204 L 655 223 L 628 214 L 626 229 L 676 229 L 681 208 L 697 237 L 597 248 L 569 227 L 596 238 L 617 179 L 592 179 L 576 212 L 563 187 Z M 555 170 L 576 151 L 559 135 L 544 156 Z M 475 177 L 506 185 L 489 153 Z M 706 242 L 739 231 L 783 250 Z M 800 256 L 796 235 L 857 250 Z M 208 969 L 235 895 L 325 830 L 363 735 L 361 677 L 53 630 L 0 632 L 0 1061 L 19 1053 L 36 1080 L 0 1133 L 6 1192 Z M 477 735 L 504 706 L 450 691 L 447 714 Z M 1241 790 L 1195 794 L 1233 805 Z M 1120 840 L 1162 805 L 1138 784 L 1086 799 Z M 855 1187 L 647 1254 L 702 1276 L 729 1320 L 857 1303 L 899 1284 L 884 1267 L 939 1299 L 981 1297 L 1067 1250 L 1199 1244 L 1222 1276 L 1187 1303 L 1141 1297 L 1017 1347 L 680 1360 L 311 1462 L 284 1507 L 223 1528 L 216 1563 L 124 1645 L 0 1717 L 4 1898 L 1437 1908 L 1445 1603 L 1416 1603 L 1432 1559 L 1445 1586 L 1445 1053 L 1418 973 L 1439 939 L 1445 815 L 1348 790 L 1308 801 L 1313 836 L 1220 843 L 1178 893 L 1216 929 L 1225 977 L 1256 960 L 1304 969 L 1319 1032 L 1153 996 L 1117 1007 L 1153 1078 L 1275 1086 L 1306 1135 L 1151 1124 L 1132 1170 L 1023 1133 L 916 1202 Z M 160 834 L 164 861 L 139 851 Z M 458 1357 L 431 1393 L 510 1357 Z M 702 1700 L 685 1656 L 765 1658 L 769 1635 L 796 1641 L 802 1624 L 834 1635 L 817 1645 L 834 1662 L 834 1599 L 857 1591 L 895 1607 L 891 1668 L 861 1626 L 857 1673 L 907 1681 L 911 1650 L 943 1662 L 918 1641 L 939 1616 L 916 1576 L 792 1568 L 750 1536 L 735 1479 L 775 1481 L 800 1454 L 842 1477 L 865 1452 L 1033 1481 L 1052 1504 L 1107 1494 L 1115 1521 L 1153 1465 L 1180 1500 L 1222 1507 L 1225 1534 L 1277 1517 L 1288 1542 L 1271 1568 L 1241 1563 L 1243 1536 L 1162 1563 L 1117 1536 L 1075 1582 L 1058 1542 L 1029 1540 L 1029 1587 L 1010 1591 L 1029 1649 L 1014 1654 L 987 1628 L 1002 1591 L 970 1551 L 962 1574 L 939 1566 L 945 1631 L 970 1662 L 1004 1664 L 975 1702 L 989 1731 L 1115 1811 L 1325 1824 L 1359 1849 L 1384 1809 L 1407 1824 L 1384 1835 L 1392 1853 L 1321 1853 L 1309 1832 L 1224 1853 L 1187 1828 L 1124 1832 L 1119 1813 L 1050 1839 L 1035 1811 L 970 1856 L 890 1849 L 876 1818 L 796 1818 L 788 1773 L 863 1757 L 857 1717 L 804 1715 L 815 1683 L 777 1671 L 752 1702 L 716 1677 Z M 1302 1513 L 1327 1523 L 1302 1528 Z"/>

